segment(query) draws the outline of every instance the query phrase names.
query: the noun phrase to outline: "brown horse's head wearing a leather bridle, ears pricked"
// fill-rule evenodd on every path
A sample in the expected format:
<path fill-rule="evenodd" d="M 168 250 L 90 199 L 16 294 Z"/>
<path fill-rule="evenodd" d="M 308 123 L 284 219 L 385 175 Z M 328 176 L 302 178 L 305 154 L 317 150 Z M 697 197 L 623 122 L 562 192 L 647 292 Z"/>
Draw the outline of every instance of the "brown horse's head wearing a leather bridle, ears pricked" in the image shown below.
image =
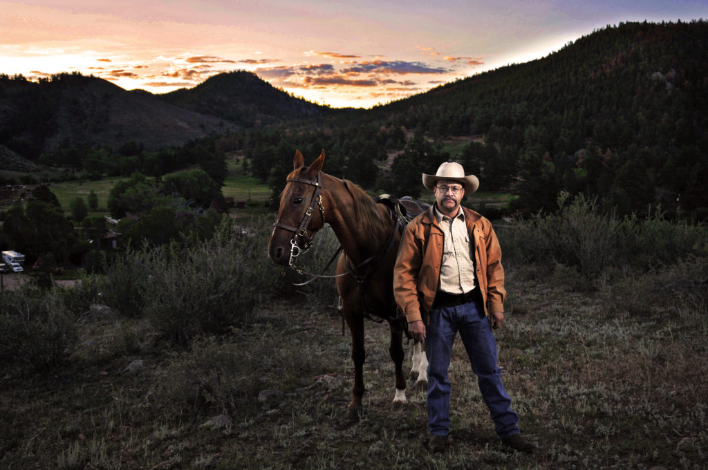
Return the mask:
<path fill-rule="evenodd" d="M 324 150 L 310 166 L 304 166 L 302 154 L 295 151 L 293 171 L 280 195 L 278 220 L 268 243 L 268 257 L 275 264 L 292 265 L 299 253 L 309 249 L 316 231 L 324 227 L 319 184 L 322 164 Z"/>

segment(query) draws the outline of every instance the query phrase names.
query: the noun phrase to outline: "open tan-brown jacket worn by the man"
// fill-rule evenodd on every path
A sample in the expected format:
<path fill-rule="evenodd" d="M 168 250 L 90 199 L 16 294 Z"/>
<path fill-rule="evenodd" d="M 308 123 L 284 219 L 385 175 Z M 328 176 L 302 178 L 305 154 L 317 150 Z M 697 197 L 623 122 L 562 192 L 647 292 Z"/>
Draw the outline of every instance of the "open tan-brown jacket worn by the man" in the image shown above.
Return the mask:
<path fill-rule="evenodd" d="M 504 311 L 504 268 L 501 247 L 489 219 L 462 207 L 467 231 L 474 241 L 477 285 L 484 298 L 484 313 Z M 440 284 L 444 234 L 433 207 L 409 222 L 401 238 L 394 267 L 394 296 L 406 319 L 422 319 L 430 311 Z"/>

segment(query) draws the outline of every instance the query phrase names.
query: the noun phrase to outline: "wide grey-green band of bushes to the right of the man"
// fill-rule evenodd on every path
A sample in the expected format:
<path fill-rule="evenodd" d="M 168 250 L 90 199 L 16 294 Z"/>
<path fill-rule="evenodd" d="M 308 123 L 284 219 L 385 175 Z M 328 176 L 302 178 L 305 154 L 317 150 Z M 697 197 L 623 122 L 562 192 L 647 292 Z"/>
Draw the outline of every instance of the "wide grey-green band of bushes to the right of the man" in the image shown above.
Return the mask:
<path fill-rule="evenodd" d="M 501 228 L 505 258 L 549 269 L 565 265 L 596 279 L 607 268 L 647 270 L 657 263 L 673 265 L 708 253 L 705 224 L 670 222 L 658 210 L 644 219 L 636 215 L 619 219 L 615 212 L 603 214 L 595 200 L 583 195 L 570 205 L 565 202 L 561 195 L 556 213 L 539 213 L 512 228 Z"/>

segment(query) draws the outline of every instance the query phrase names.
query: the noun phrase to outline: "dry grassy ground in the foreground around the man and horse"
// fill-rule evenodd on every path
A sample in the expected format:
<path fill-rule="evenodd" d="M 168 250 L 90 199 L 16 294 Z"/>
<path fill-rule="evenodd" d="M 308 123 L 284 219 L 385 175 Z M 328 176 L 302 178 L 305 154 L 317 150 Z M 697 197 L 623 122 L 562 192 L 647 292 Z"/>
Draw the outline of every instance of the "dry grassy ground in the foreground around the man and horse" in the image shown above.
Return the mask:
<path fill-rule="evenodd" d="M 390 409 L 387 328 L 367 323 L 365 412 L 346 424 L 352 365 L 331 309 L 273 300 L 255 323 L 173 350 L 144 320 L 93 311 L 50 374 L 3 373 L 0 466 L 62 469 L 670 469 L 708 452 L 704 302 L 617 309 L 508 267 L 504 381 L 539 449 L 503 451 L 459 341 L 450 452 L 431 455 L 425 396 Z M 133 360 L 144 369 L 124 372 Z M 275 390 L 270 396 L 259 394 Z M 225 413 L 231 424 L 204 425 Z"/>

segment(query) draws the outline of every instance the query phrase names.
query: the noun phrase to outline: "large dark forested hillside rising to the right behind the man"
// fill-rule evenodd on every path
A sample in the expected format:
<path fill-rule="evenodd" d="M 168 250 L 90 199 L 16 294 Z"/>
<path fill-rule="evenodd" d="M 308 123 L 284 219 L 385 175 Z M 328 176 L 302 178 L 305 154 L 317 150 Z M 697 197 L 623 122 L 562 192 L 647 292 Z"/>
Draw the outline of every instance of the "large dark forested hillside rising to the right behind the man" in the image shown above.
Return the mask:
<path fill-rule="evenodd" d="M 605 28 L 372 113 L 431 137 L 483 135 L 486 151 L 472 152 L 483 183 L 515 182 L 527 206 L 567 190 L 693 210 L 708 206 L 707 112 L 701 21 Z"/>

